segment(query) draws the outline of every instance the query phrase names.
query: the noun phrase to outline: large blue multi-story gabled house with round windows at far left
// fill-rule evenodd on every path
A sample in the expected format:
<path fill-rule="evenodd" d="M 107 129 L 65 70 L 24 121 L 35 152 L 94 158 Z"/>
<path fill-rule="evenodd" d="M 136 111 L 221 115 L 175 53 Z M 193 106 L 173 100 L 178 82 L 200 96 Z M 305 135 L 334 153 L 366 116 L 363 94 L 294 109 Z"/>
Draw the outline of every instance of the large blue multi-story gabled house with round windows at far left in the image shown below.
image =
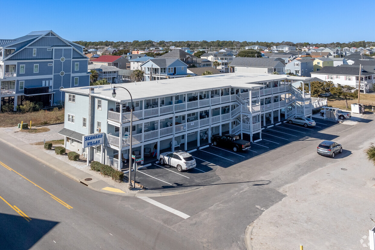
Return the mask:
<path fill-rule="evenodd" d="M 0 110 L 14 110 L 26 100 L 43 107 L 64 102 L 64 88 L 90 85 L 89 58 L 83 46 L 52 30 L 33 31 L 16 39 L 0 39 Z"/>

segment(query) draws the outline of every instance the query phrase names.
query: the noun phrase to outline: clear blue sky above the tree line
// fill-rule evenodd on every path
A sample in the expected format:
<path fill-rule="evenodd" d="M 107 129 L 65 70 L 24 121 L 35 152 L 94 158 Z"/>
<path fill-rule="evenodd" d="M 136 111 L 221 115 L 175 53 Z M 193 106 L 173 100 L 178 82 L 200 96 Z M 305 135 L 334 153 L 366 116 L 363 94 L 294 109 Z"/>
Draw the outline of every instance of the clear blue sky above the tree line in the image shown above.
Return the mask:
<path fill-rule="evenodd" d="M 21 0 L 3 8 L 0 39 L 53 30 L 73 41 L 375 41 L 374 19 L 348 0 Z"/>

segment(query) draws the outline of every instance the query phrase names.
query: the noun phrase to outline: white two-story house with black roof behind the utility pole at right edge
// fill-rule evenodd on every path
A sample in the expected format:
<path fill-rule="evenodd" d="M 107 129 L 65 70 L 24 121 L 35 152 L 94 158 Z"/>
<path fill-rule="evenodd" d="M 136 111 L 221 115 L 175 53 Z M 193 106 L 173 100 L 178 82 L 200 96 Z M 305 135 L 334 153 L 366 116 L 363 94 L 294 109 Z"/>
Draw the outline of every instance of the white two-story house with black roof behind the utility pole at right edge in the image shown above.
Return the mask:
<path fill-rule="evenodd" d="M 358 66 L 327 66 L 318 72 L 312 72 L 311 77 L 316 77 L 324 81 L 332 81 L 335 85 L 349 85 L 358 88 L 359 84 L 359 65 Z M 360 90 L 368 93 L 374 84 L 375 73 L 361 70 Z"/>

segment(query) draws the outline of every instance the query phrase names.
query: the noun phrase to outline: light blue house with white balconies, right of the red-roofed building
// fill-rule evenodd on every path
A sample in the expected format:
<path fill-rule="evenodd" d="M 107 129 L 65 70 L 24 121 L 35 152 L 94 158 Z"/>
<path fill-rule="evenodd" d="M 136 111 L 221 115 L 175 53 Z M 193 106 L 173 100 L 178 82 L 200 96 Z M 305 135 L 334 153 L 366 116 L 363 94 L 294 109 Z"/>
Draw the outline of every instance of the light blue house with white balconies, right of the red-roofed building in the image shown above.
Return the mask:
<path fill-rule="evenodd" d="M 175 58 L 151 59 L 142 63 L 140 67 L 144 72 L 145 81 L 180 78 L 187 76 L 187 64 L 180 59 Z"/>

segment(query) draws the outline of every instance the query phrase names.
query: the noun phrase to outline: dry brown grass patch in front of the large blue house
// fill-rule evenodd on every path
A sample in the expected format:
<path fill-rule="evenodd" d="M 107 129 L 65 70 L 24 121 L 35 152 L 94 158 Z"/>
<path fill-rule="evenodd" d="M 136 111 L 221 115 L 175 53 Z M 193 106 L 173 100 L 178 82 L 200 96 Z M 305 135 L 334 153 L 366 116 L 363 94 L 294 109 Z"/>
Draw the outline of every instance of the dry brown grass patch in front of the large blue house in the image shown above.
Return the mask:
<path fill-rule="evenodd" d="M 29 113 L 1 113 L 0 127 L 15 127 L 18 123 L 30 123 L 32 126 L 59 123 L 64 121 L 64 109 L 40 110 Z M 29 124 L 30 125 L 30 124 Z"/>

